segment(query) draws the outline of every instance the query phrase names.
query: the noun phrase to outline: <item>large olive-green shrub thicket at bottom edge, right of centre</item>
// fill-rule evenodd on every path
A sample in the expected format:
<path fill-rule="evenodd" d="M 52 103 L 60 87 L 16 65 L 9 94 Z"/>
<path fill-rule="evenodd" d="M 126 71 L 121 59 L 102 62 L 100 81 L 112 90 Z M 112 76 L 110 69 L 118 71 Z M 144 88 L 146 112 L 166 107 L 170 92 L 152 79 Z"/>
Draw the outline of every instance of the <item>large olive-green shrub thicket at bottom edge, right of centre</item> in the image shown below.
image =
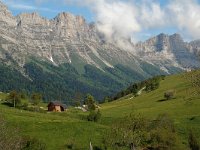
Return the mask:
<path fill-rule="evenodd" d="M 159 115 L 154 121 L 130 115 L 113 124 L 103 142 L 107 148 L 166 150 L 175 146 L 176 133 L 167 115 Z"/>

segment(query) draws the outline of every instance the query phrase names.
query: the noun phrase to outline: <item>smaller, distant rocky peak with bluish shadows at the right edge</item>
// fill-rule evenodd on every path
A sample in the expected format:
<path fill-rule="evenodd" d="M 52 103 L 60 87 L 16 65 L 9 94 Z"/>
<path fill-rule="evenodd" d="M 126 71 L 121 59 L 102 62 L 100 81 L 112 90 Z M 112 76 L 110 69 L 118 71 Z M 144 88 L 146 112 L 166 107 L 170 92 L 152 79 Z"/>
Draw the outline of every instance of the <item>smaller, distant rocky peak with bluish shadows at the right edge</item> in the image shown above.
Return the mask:
<path fill-rule="evenodd" d="M 169 66 L 183 70 L 199 68 L 200 61 L 194 53 L 195 46 L 183 41 L 179 34 L 160 34 L 145 42 L 136 44 L 138 55 L 149 63 L 169 71 Z"/>

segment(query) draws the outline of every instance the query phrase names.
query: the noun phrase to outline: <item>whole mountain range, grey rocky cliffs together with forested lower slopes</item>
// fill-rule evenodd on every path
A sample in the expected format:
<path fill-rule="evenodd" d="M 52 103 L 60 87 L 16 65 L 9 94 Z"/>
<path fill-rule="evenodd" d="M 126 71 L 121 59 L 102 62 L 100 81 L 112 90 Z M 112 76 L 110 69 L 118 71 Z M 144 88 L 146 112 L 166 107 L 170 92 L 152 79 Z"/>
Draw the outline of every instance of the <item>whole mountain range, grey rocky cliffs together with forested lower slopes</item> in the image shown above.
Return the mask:
<path fill-rule="evenodd" d="M 0 2 L 0 90 L 41 92 L 46 101 L 70 102 L 77 93 L 102 100 L 133 82 L 200 68 L 200 40 L 163 33 L 136 44 L 120 40 L 127 49 L 82 16 L 13 16 Z"/>

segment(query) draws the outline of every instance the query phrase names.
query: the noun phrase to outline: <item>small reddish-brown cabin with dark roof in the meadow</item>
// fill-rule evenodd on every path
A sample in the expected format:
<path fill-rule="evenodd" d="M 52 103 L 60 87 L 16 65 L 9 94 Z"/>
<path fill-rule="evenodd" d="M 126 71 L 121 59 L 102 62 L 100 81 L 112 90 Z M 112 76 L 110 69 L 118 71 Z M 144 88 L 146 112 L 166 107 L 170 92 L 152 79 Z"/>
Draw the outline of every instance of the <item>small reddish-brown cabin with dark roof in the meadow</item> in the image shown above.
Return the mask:
<path fill-rule="evenodd" d="M 59 101 L 50 102 L 47 107 L 48 111 L 53 111 L 53 112 L 61 112 L 67 109 L 67 106 Z"/>

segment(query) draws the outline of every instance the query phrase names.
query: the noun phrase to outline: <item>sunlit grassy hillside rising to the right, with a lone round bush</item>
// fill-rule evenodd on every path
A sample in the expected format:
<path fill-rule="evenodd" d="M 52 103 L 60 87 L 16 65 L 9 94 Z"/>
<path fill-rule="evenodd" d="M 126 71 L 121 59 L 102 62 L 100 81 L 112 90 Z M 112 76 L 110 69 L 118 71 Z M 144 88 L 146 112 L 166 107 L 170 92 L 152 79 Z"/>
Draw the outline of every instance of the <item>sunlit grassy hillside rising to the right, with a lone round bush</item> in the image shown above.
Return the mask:
<path fill-rule="evenodd" d="M 164 92 L 175 90 L 176 98 L 163 101 Z M 184 75 L 166 77 L 161 81 L 160 88 L 133 98 L 132 95 L 118 101 L 104 104 L 102 112 L 105 123 L 110 119 L 117 119 L 129 113 L 140 113 L 147 118 L 154 119 L 158 114 L 167 113 L 173 118 L 179 137 L 183 143 L 187 142 L 189 129 L 194 129 L 200 137 L 200 97 L 188 100 L 192 87 Z M 193 120 L 190 120 L 193 118 Z M 184 145 L 182 145 L 185 147 Z"/>

